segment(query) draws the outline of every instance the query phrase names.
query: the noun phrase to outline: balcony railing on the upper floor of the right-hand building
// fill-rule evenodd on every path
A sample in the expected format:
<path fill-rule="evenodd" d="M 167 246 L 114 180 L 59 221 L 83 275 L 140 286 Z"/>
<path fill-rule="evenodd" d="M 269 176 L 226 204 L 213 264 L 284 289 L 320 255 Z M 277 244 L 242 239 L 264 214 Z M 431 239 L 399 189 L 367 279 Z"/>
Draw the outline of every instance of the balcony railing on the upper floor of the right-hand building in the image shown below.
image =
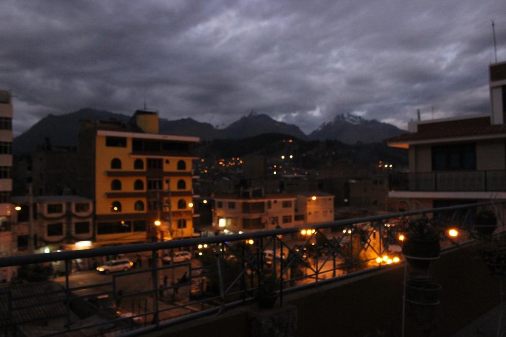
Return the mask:
<path fill-rule="evenodd" d="M 394 173 L 390 190 L 399 191 L 506 191 L 506 171 Z"/>

